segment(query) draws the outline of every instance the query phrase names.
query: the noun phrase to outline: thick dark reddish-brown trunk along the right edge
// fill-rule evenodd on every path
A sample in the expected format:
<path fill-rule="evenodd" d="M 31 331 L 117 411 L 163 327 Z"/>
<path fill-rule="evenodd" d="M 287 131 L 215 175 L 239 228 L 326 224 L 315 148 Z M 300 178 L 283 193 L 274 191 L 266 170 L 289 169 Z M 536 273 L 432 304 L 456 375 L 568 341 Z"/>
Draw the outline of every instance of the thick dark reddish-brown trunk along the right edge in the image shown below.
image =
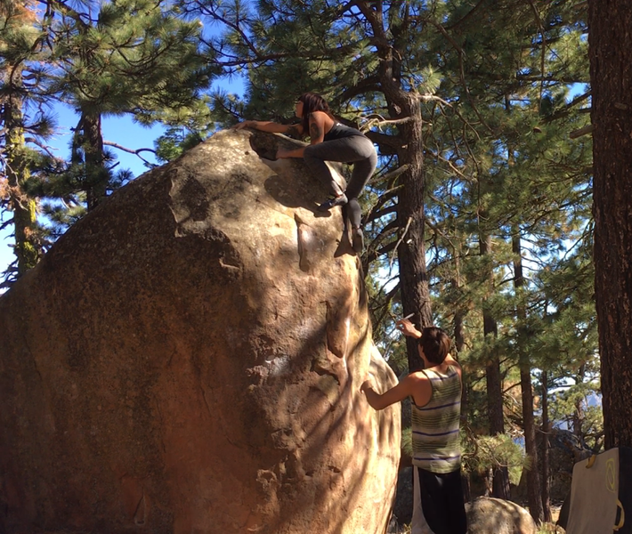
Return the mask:
<path fill-rule="evenodd" d="M 632 2 L 588 0 L 605 448 L 632 447 Z"/>

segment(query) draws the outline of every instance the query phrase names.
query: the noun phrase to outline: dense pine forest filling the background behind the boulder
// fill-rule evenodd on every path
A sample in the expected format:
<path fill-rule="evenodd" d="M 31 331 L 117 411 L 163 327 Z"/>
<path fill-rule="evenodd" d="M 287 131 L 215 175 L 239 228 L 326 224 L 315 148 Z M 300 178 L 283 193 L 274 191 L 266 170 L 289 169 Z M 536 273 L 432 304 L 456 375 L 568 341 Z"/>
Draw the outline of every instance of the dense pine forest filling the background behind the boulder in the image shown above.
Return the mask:
<path fill-rule="evenodd" d="M 396 318 L 450 333 L 468 473 L 501 498 L 523 473 L 550 520 L 551 428 L 604 447 L 587 2 L 0 0 L 0 25 L 4 287 L 137 174 L 104 119 L 154 126 L 150 167 L 321 93 L 379 154 L 361 198 L 376 343 L 401 375 L 419 362 Z"/>

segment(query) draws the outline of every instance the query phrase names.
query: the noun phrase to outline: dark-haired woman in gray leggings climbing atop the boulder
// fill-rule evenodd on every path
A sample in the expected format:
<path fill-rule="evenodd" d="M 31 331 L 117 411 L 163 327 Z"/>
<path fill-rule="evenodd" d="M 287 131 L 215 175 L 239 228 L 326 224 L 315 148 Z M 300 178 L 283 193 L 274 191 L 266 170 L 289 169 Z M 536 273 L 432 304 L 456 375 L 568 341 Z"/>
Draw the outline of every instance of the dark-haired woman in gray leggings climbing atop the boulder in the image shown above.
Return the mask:
<path fill-rule="evenodd" d="M 369 182 L 377 166 L 377 153 L 373 143 L 360 130 L 341 125 L 329 111 L 327 101 L 320 94 L 303 93 L 296 101 L 298 125 L 280 125 L 269 121 L 247 120 L 234 126 L 237 129 L 255 128 L 263 132 L 310 136 L 310 145 L 295 150 L 278 150 L 277 158 L 304 158 L 305 164 L 332 190 L 333 196 L 318 207 L 328 211 L 335 206 L 347 205 L 352 225 L 352 247 L 361 254 L 364 236 L 361 229 L 362 211 L 358 197 Z M 336 183 L 325 161 L 352 163 L 351 180 L 346 190 Z"/>

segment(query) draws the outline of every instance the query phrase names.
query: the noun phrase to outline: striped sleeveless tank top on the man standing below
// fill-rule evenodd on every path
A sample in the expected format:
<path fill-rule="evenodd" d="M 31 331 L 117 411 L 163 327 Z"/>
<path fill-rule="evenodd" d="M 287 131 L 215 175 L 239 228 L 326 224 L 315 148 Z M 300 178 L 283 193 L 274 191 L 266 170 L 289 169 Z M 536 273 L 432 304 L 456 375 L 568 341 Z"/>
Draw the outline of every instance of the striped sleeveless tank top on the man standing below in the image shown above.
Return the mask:
<path fill-rule="evenodd" d="M 432 473 L 451 473 L 461 465 L 461 380 L 451 365 L 445 373 L 432 369 L 421 372 L 430 379 L 433 393 L 422 408 L 411 402 L 412 463 Z"/>

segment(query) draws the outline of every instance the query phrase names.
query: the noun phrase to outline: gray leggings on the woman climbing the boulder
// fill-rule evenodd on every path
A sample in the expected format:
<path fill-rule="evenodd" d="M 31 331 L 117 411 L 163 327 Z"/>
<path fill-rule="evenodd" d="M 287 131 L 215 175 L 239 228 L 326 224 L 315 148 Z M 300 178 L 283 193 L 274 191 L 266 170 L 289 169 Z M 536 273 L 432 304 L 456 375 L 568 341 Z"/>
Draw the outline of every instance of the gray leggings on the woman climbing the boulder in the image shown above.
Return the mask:
<path fill-rule="evenodd" d="M 377 153 L 373 143 L 362 135 L 323 141 L 305 147 L 303 158 L 312 173 L 321 182 L 327 184 L 336 195 L 340 195 L 343 191 L 334 182 L 325 161 L 353 164 L 351 180 L 347 184 L 344 194 L 348 199 L 349 220 L 353 228 L 360 228 L 362 210 L 358 203 L 358 197 L 377 166 Z"/>

